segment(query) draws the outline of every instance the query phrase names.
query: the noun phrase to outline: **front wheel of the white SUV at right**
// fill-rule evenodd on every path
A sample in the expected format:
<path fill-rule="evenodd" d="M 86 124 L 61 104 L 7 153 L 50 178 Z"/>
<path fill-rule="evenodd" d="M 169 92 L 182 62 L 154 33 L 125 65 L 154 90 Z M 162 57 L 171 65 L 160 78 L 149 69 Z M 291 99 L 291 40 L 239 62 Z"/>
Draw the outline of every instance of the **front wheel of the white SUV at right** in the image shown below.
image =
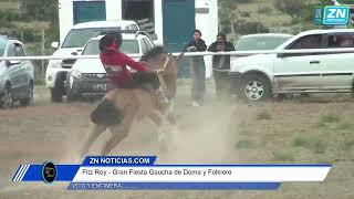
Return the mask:
<path fill-rule="evenodd" d="M 271 96 L 270 83 L 261 75 L 247 75 L 241 82 L 239 96 L 251 102 L 266 101 Z"/>

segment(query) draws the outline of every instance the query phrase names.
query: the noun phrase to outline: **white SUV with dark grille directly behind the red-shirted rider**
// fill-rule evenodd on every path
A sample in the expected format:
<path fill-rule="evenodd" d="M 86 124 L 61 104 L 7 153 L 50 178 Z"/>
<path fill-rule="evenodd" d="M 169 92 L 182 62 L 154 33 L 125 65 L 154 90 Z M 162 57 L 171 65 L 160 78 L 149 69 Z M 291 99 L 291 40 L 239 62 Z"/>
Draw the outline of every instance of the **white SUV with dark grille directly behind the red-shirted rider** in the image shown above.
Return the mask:
<path fill-rule="evenodd" d="M 82 54 L 98 55 L 98 45 L 102 36 L 91 39 L 82 51 Z M 123 44 L 121 51 L 127 54 L 144 54 L 154 46 L 153 41 L 145 34 L 123 33 L 122 38 Z M 82 97 L 101 97 L 110 87 L 107 74 L 100 59 L 77 60 L 69 71 L 66 80 L 67 101 Z"/>

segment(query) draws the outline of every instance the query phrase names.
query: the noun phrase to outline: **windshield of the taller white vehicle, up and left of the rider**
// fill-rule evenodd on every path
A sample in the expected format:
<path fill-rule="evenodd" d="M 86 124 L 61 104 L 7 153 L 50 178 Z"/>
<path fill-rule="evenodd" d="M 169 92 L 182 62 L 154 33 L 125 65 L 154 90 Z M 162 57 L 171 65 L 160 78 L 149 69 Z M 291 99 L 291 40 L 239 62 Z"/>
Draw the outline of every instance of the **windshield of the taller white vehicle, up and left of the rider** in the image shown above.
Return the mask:
<path fill-rule="evenodd" d="M 66 35 L 62 48 L 83 48 L 91 38 L 118 29 L 121 30 L 121 28 L 72 29 Z"/>

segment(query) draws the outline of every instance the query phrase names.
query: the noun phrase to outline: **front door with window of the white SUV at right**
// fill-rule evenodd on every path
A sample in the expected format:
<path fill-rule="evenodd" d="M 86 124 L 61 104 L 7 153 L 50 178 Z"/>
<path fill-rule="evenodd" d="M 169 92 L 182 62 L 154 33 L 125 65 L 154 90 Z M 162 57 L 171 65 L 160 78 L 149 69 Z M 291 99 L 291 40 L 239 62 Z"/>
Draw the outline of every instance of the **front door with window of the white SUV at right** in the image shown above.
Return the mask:
<path fill-rule="evenodd" d="M 304 35 L 285 50 L 322 49 L 322 34 Z M 321 82 L 321 53 L 278 54 L 274 59 L 274 80 L 279 91 L 319 90 Z"/>

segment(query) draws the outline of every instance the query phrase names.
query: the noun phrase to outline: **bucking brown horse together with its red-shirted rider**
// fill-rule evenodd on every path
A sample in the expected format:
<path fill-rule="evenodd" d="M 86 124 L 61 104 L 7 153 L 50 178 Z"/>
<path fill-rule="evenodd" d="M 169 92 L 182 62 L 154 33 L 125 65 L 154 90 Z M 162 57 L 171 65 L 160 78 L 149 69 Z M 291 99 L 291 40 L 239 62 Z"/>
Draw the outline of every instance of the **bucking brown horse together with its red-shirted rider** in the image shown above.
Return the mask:
<path fill-rule="evenodd" d="M 100 41 L 102 51 L 100 57 L 111 82 L 117 87 L 143 87 L 143 90 L 149 91 L 152 95 L 142 90 L 134 90 L 133 92 L 128 90 L 110 91 L 90 114 L 92 126 L 88 138 L 82 147 L 82 156 L 88 151 L 95 139 L 107 128 L 111 130 L 112 137 L 104 145 L 101 155 L 107 155 L 118 145 L 128 135 L 135 121 L 150 118 L 157 126 L 162 126 L 165 122 L 170 125 L 176 123 L 171 113 L 173 101 L 164 106 L 166 103 L 160 103 L 159 100 L 175 96 L 178 65 L 184 57 L 184 53 L 174 57 L 165 52 L 163 46 L 154 46 L 142 56 L 140 62 L 136 62 L 118 51 L 121 44 L 122 35 L 119 33 L 110 33 Z M 131 73 L 127 65 L 138 72 Z M 149 85 L 149 87 L 144 87 L 145 85 Z M 156 92 L 159 87 L 160 93 Z M 158 96 L 158 94 L 162 95 Z"/>

